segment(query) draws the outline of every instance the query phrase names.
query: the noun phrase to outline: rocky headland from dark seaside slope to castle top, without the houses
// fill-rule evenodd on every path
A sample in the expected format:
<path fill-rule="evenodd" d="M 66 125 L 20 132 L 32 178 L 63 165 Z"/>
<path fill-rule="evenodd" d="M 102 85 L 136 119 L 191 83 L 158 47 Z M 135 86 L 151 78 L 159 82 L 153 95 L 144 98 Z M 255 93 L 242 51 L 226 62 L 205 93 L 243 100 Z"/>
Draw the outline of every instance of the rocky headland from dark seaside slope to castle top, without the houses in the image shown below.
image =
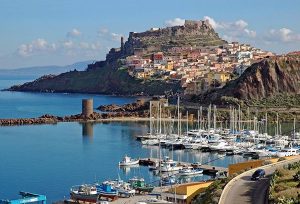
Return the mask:
<path fill-rule="evenodd" d="M 186 21 L 183 26 L 151 29 L 129 34 L 120 48 L 112 48 L 105 61 L 89 64 L 86 71 L 70 71 L 58 76 L 48 75 L 33 82 L 13 86 L 11 91 L 81 92 L 118 95 L 161 95 L 180 90 L 179 81 L 137 80 L 119 70 L 119 59 L 134 54 L 149 55 L 178 46 L 220 46 L 222 40 L 208 21 Z"/>

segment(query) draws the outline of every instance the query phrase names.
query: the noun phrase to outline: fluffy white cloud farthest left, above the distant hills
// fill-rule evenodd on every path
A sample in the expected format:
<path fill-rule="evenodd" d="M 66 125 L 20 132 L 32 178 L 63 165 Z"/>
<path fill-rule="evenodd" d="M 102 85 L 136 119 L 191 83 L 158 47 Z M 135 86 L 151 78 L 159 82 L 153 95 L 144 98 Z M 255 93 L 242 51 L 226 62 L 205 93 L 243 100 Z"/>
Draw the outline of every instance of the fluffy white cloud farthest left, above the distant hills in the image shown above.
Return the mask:
<path fill-rule="evenodd" d="M 38 38 L 31 43 L 20 45 L 17 49 L 17 54 L 22 57 L 29 57 L 36 54 L 55 51 L 56 49 L 57 45 L 55 43 L 48 43 L 45 39 Z"/>

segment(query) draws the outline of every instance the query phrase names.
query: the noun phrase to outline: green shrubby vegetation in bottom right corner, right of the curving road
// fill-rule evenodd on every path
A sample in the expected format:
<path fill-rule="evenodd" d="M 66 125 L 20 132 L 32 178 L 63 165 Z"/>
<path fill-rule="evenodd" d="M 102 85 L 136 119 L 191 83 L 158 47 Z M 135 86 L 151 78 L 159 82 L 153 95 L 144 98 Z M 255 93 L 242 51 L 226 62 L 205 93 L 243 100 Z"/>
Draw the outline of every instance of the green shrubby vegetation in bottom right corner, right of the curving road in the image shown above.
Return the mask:
<path fill-rule="evenodd" d="M 300 162 L 275 171 L 270 182 L 269 203 L 300 204 Z"/>

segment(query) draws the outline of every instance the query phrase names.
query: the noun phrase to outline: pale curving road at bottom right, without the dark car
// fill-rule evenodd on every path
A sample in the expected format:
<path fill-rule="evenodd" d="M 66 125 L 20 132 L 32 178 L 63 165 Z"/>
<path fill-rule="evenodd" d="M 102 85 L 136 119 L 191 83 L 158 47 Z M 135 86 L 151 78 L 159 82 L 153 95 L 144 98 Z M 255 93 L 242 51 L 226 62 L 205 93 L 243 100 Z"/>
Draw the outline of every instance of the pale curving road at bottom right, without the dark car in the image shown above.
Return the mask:
<path fill-rule="evenodd" d="M 225 195 L 222 195 L 219 204 L 264 204 L 268 203 L 268 188 L 271 174 L 274 171 L 286 165 L 299 161 L 300 158 L 280 162 L 278 164 L 262 167 L 266 171 L 266 177 L 259 181 L 252 181 L 251 176 L 253 171 L 248 171 L 228 183 Z M 225 191 L 225 190 L 224 190 Z"/>

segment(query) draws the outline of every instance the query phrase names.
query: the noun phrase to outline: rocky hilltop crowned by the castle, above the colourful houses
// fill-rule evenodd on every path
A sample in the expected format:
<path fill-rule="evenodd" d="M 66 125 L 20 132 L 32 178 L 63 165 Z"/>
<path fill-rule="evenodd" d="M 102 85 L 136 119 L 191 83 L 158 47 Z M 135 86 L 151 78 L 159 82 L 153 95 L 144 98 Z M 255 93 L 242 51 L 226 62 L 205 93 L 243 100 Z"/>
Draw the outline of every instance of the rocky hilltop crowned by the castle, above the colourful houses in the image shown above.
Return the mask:
<path fill-rule="evenodd" d="M 208 21 L 186 20 L 183 26 L 151 29 L 142 33 L 131 32 L 124 45 L 126 53 L 135 51 L 167 51 L 172 47 L 219 46 L 226 44 Z"/>

